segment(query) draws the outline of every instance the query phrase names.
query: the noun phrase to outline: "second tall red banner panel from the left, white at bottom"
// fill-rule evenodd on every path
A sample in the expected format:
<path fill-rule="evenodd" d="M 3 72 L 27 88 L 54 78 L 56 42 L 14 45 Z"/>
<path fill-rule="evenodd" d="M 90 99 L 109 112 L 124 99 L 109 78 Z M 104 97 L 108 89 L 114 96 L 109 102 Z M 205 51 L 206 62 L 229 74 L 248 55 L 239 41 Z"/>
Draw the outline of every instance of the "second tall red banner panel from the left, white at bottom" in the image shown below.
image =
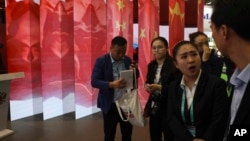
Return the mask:
<path fill-rule="evenodd" d="M 40 7 L 44 119 L 74 110 L 73 0 Z"/>

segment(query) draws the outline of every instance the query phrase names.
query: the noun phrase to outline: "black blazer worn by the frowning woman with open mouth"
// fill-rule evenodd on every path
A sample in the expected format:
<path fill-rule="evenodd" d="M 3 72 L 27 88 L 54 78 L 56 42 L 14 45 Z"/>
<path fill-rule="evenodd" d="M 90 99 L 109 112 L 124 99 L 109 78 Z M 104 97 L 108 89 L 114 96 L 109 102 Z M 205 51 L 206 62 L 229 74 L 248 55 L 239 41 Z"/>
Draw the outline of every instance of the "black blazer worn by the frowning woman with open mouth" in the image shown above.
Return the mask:
<path fill-rule="evenodd" d="M 185 128 L 181 117 L 183 90 L 180 87 L 180 82 L 181 79 L 172 82 L 168 89 L 167 136 L 170 141 L 192 141 L 194 138 Z M 214 75 L 202 72 L 196 87 L 193 104 L 196 138 L 202 138 L 206 141 L 221 141 L 227 125 L 229 107 L 226 82 Z"/>

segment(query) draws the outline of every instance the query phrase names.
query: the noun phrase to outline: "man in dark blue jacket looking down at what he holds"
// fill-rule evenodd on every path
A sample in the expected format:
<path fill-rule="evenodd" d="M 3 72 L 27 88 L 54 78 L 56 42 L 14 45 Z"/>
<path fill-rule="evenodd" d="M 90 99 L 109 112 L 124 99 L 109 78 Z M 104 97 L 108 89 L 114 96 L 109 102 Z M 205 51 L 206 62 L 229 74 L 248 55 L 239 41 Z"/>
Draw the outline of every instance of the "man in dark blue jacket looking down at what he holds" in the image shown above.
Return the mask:
<path fill-rule="evenodd" d="M 97 106 L 103 113 L 105 141 L 114 141 L 118 123 L 122 141 L 131 141 L 132 125 L 122 121 L 114 103 L 123 94 L 122 88 L 126 86 L 126 81 L 119 78 L 119 72 L 134 67 L 131 59 L 125 55 L 126 49 L 125 38 L 113 38 L 110 53 L 97 58 L 91 76 L 91 85 L 99 89 Z"/>

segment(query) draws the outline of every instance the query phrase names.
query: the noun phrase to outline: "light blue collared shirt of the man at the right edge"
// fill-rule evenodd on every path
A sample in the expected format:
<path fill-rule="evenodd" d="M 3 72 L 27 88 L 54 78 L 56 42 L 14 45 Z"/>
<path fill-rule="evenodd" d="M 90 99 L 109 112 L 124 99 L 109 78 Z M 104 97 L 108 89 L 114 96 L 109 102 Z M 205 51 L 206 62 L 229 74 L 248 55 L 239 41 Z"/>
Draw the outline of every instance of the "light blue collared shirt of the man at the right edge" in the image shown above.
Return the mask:
<path fill-rule="evenodd" d="M 233 124 L 234 122 L 242 97 L 244 96 L 244 92 L 246 90 L 249 78 L 250 78 L 250 63 L 242 71 L 236 69 L 230 79 L 230 83 L 234 85 L 234 92 L 231 103 L 230 124 Z"/>

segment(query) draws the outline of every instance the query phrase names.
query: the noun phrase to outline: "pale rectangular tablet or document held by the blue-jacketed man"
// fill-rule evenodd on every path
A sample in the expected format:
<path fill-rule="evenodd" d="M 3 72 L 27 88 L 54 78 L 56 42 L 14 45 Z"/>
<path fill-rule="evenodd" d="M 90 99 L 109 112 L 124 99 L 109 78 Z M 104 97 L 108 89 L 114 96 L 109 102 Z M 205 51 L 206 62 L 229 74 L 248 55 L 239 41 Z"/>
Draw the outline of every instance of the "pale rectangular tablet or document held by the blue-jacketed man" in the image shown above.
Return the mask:
<path fill-rule="evenodd" d="M 127 82 L 127 85 L 124 89 L 133 89 L 133 79 L 134 79 L 134 70 L 123 70 L 120 71 L 120 78 L 124 78 Z"/>

